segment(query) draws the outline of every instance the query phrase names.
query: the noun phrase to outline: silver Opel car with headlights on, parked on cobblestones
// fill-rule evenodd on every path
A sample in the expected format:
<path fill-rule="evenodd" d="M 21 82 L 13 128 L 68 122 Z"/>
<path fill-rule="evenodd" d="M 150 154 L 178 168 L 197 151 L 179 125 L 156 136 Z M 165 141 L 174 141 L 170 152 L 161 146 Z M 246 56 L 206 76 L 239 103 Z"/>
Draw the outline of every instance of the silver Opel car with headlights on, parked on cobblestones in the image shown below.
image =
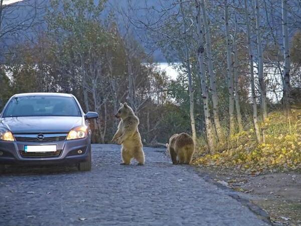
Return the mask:
<path fill-rule="evenodd" d="M 5 164 L 78 164 L 91 170 L 91 130 L 72 94 L 24 93 L 10 98 L 0 114 L 0 167 Z"/>

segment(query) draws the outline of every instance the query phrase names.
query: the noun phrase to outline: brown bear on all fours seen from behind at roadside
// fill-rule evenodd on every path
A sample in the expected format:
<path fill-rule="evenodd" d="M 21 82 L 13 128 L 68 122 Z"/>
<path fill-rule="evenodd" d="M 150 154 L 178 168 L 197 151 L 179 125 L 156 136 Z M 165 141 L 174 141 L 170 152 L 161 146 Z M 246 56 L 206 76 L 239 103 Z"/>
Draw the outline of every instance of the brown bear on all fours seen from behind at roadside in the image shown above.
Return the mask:
<path fill-rule="evenodd" d="M 174 134 L 171 136 L 169 144 L 166 144 L 173 164 L 190 164 L 194 153 L 194 143 L 192 138 L 186 134 Z M 178 159 L 177 159 L 178 157 Z"/>

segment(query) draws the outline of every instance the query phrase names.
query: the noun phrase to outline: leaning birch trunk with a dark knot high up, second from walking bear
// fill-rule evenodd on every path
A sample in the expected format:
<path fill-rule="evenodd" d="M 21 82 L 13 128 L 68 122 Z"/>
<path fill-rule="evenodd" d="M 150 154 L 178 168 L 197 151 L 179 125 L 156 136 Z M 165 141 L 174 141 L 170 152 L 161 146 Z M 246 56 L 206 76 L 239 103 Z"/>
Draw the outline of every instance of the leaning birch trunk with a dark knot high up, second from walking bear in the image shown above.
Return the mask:
<path fill-rule="evenodd" d="M 214 136 L 212 131 L 212 123 L 210 116 L 210 108 L 209 108 L 209 94 L 208 94 L 208 86 L 206 83 L 206 75 L 205 75 L 205 65 L 204 65 L 204 43 L 203 43 L 203 32 L 201 28 L 201 8 L 200 8 L 200 0 L 195 0 L 196 7 L 196 24 L 197 24 L 197 33 L 198 33 L 198 66 L 199 66 L 199 76 L 201 80 L 201 89 L 202 89 L 202 97 L 203 97 L 203 105 L 204 105 L 204 116 L 205 116 L 205 126 L 206 126 L 206 137 L 208 142 L 208 148 L 211 153 L 214 151 Z"/>

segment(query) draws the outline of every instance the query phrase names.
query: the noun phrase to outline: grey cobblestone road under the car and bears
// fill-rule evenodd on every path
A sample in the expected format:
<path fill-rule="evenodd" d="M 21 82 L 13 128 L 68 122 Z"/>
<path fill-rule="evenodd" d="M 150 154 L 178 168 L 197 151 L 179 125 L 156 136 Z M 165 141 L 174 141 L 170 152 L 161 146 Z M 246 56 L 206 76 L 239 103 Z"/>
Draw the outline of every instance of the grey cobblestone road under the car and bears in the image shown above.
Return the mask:
<path fill-rule="evenodd" d="M 119 165 L 120 147 L 93 145 L 91 172 L 13 169 L 0 176 L 0 225 L 266 225 L 229 191 L 163 149 Z"/>

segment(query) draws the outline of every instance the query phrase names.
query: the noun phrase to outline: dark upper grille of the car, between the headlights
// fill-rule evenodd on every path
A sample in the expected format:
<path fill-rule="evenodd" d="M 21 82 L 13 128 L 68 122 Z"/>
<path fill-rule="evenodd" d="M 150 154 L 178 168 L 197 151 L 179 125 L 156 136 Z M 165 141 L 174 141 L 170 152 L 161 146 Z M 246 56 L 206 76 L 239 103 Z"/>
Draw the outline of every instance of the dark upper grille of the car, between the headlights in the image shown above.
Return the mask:
<path fill-rule="evenodd" d="M 21 142 L 54 142 L 65 141 L 67 134 L 45 134 L 43 140 L 38 139 L 38 134 L 15 135 L 16 141 Z"/>

